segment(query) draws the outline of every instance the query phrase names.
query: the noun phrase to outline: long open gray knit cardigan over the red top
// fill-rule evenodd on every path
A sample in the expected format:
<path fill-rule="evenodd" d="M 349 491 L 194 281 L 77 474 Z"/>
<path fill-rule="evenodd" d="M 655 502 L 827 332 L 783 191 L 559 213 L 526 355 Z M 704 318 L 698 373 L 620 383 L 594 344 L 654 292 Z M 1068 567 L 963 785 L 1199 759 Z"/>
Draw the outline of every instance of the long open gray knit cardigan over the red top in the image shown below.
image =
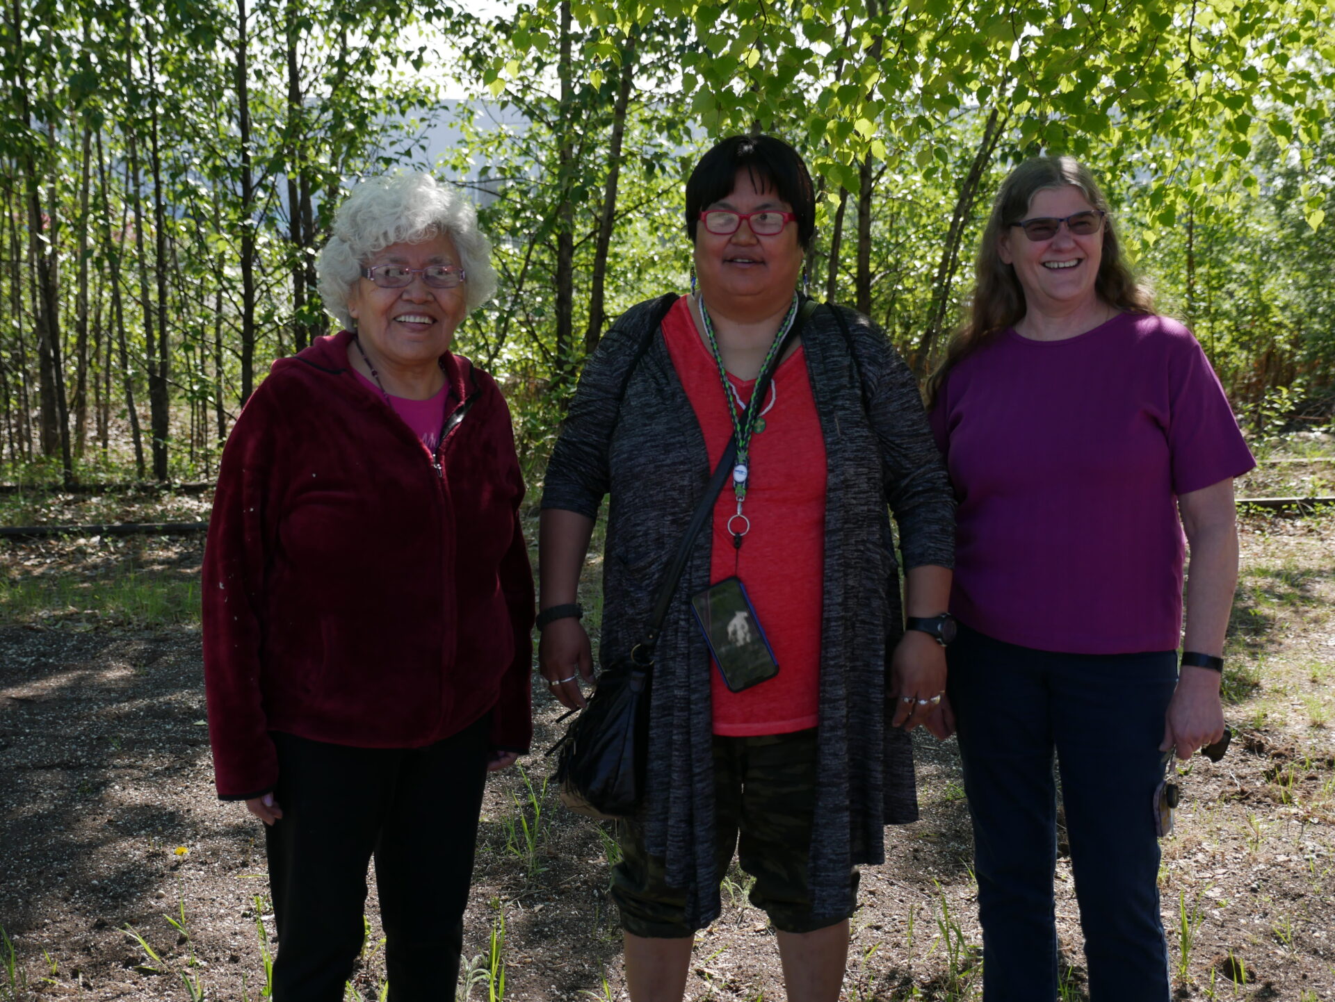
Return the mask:
<path fill-rule="evenodd" d="M 659 580 L 712 470 L 662 331 L 631 370 L 666 298 L 626 311 L 589 358 L 547 466 L 543 508 L 597 518 L 610 495 L 599 660 L 642 636 Z M 917 819 L 909 736 L 888 726 L 889 658 L 902 635 L 894 512 L 906 567 L 955 559 L 955 506 L 917 386 L 884 334 L 821 307 L 802 328 L 825 438 L 825 588 L 818 770 L 809 878 L 817 915 L 853 907 L 852 867 L 885 859 L 884 826 Z M 625 392 L 622 388 L 625 387 Z M 784 471 L 810 476 L 818 471 Z M 688 595 L 709 586 L 701 532 L 654 658 L 647 798 L 639 818 L 697 927 L 720 911 L 710 755 L 712 663 Z"/>

